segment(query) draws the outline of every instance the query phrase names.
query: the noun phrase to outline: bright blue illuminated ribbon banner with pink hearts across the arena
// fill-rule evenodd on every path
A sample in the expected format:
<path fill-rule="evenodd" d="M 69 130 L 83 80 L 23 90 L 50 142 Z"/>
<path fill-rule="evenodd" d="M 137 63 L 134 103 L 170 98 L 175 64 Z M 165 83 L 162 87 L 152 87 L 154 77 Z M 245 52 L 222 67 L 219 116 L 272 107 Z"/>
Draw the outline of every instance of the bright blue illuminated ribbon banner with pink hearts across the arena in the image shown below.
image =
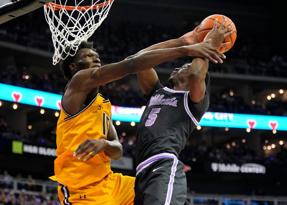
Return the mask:
<path fill-rule="evenodd" d="M 61 95 L 0 83 L 0 99 L 61 110 Z M 145 106 L 121 107 L 112 105 L 113 120 L 139 122 Z M 234 127 L 261 130 L 287 130 L 287 117 L 206 112 L 199 123 L 209 127 Z"/>

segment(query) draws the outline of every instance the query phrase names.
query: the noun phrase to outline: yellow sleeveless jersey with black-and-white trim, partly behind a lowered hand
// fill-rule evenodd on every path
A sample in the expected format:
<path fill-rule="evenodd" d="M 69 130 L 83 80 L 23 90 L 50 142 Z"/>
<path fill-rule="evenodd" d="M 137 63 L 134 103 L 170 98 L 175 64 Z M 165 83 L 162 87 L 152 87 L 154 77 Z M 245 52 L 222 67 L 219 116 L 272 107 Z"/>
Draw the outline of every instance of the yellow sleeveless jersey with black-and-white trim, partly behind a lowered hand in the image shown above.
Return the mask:
<path fill-rule="evenodd" d="M 100 181 L 111 172 L 110 158 L 101 152 L 88 161 L 73 157 L 77 147 L 86 139 L 106 139 L 111 116 L 111 103 L 98 94 L 92 102 L 75 115 L 61 109 L 57 122 L 57 159 L 51 180 L 78 189 Z"/>

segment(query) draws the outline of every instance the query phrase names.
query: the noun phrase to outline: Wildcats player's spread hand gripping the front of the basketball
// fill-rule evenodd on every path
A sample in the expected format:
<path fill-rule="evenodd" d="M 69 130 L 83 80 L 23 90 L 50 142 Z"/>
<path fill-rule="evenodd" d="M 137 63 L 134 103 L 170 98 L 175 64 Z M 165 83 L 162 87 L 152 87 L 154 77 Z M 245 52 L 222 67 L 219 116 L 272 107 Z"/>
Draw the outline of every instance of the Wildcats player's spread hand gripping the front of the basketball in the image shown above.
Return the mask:
<path fill-rule="evenodd" d="M 231 31 L 228 31 L 231 28 L 232 23 L 230 23 L 226 28 L 224 28 L 226 21 L 227 19 L 224 19 L 221 25 L 217 28 L 218 19 L 215 19 L 212 30 L 209 31 L 208 34 L 206 34 L 206 37 L 204 38 L 204 40 L 212 39 L 211 45 L 213 47 L 218 47 L 218 48 L 225 47 L 228 44 L 230 44 L 230 42 L 222 43 L 226 37 L 230 36 L 234 32 L 234 29 Z"/>

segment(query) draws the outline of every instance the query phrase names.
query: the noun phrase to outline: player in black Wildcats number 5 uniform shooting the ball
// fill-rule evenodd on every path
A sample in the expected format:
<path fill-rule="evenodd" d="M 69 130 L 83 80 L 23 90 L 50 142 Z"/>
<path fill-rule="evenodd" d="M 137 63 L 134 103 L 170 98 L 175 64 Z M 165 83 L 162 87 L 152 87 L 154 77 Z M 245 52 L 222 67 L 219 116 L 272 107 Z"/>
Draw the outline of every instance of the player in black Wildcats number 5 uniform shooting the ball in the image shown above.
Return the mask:
<path fill-rule="evenodd" d="M 228 45 L 222 41 L 234 31 L 228 32 L 231 25 L 224 29 L 225 22 L 217 28 L 216 20 L 206 35 L 213 47 Z M 197 29 L 181 38 L 184 43 L 197 43 Z M 177 46 L 177 40 L 170 40 L 140 52 Z M 168 79 L 173 89 L 163 87 L 153 69 L 137 73 L 148 104 L 137 131 L 134 204 L 189 204 L 184 165 L 177 157 L 209 106 L 208 63 L 207 58 L 197 57 L 176 68 Z"/>

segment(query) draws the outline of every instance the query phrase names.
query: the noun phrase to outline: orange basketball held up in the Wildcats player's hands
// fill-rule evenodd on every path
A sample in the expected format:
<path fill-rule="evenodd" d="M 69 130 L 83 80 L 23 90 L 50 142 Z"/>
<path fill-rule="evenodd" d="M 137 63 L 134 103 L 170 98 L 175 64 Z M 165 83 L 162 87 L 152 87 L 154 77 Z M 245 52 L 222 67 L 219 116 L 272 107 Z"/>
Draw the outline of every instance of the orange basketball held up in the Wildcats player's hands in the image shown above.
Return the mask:
<path fill-rule="evenodd" d="M 215 19 L 218 19 L 217 28 L 221 25 L 221 23 L 223 22 L 224 19 L 227 19 L 227 21 L 225 22 L 224 28 L 226 28 L 232 22 L 228 17 L 223 16 L 223 15 L 219 15 L 219 14 L 215 14 L 215 15 L 211 15 L 211 16 L 206 17 L 201 22 L 201 24 L 199 25 L 199 28 L 197 31 L 198 42 L 203 42 L 206 34 L 212 30 Z M 235 32 L 233 34 L 231 34 L 229 37 L 226 37 L 226 39 L 224 39 L 224 41 L 223 41 L 224 43 L 230 42 L 230 44 L 228 44 L 225 47 L 218 48 L 218 50 L 220 50 L 222 53 L 228 51 L 234 45 L 234 42 L 235 42 L 236 36 L 237 36 L 234 23 L 232 24 L 229 31 L 232 31 L 233 29 L 235 30 Z"/>

